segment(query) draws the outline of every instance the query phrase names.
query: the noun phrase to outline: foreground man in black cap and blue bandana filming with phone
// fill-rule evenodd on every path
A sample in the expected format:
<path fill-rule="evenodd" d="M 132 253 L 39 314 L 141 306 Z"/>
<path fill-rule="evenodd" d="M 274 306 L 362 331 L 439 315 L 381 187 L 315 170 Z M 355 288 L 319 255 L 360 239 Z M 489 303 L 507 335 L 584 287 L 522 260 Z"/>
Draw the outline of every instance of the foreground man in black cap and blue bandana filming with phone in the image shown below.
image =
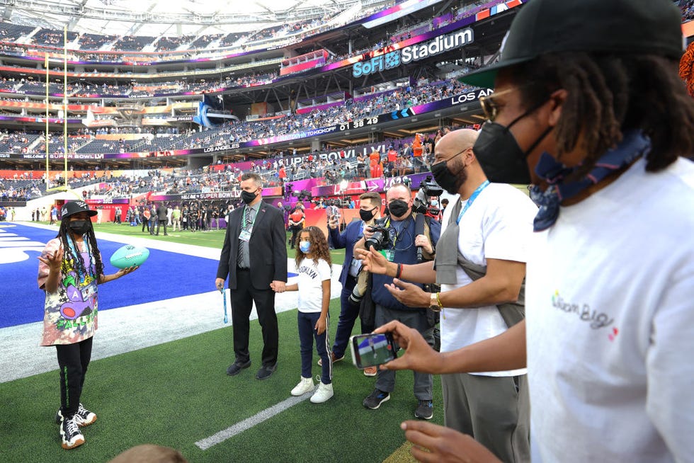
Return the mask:
<path fill-rule="evenodd" d="M 473 147 L 487 177 L 533 183 L 540 205 L 527 318 L 445 361 L 393 322 L 381 330 L 407 353 L 385 366 L 527 362 L 535 462 L 694 455 L 694 101 L 677 76 L 682 45 L 669 0 L 533 0 L 499 62 L 462 78 L 495 88 Z M 423 461 L 494 460 L 453 430 L 403 428 Z"/>

